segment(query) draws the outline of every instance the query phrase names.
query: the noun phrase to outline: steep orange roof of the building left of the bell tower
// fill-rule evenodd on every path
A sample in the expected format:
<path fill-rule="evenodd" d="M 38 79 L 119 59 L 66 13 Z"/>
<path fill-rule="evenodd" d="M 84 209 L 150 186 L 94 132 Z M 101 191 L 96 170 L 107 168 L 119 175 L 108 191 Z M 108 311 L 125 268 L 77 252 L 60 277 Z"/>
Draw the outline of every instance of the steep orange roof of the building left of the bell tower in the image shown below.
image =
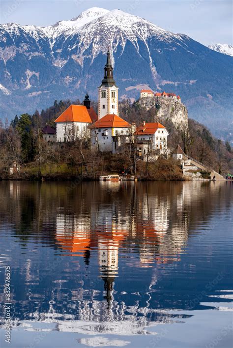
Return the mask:
<path fill-rule="evenodd" d="M 55 122 L 86 122 L 92 123 L 91 117 L 84 105 L 70 105 Z"/>

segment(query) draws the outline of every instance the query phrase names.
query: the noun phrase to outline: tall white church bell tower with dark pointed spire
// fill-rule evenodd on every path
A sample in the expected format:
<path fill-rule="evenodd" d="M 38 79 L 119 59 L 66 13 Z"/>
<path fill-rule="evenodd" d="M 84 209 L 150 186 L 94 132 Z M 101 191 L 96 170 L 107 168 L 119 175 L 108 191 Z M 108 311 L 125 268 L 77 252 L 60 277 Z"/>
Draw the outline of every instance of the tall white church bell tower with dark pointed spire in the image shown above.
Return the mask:
<path fill-rule="evenodd" d="M 118 115 L 118 87 L 113 78 L 113 65 L 109 50 L 107 53 L 107 62 L 104 67 L 104 78 L 98 89 L 98 119 L 107 114 Z"/>

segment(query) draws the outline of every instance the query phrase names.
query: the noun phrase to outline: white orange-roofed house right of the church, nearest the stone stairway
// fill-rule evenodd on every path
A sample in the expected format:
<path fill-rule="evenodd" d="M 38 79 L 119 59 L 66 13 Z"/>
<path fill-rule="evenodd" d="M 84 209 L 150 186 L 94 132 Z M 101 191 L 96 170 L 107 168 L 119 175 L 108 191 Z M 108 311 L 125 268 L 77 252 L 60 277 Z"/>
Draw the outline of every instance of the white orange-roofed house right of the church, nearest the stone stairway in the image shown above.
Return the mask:
<path fill-rule="evenodd" d="M 143 122 L 136 130 L 138 155 L 143 158 L 152 150 L 158 154 L 166 154 L 168 151 L 167 137 L 169 133 L 159 122 Z"/>

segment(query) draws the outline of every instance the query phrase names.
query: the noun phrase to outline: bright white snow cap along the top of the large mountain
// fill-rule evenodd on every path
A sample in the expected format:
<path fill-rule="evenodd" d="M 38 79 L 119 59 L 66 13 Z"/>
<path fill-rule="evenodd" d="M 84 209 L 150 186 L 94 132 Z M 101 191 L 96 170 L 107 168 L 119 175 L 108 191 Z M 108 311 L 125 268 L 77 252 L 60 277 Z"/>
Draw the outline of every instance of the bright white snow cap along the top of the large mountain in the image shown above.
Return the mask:
<path fill-rule="evenodd" d="M 146 39 L 153 34 L 160 36 L 163 40 L 168 40 L 172 37 L 180 38 L 180 35 L 159 28 L 140 17 L 121 10 L 109 11 L 98 7 L 92 7 L 82 12 L 78 17 L 68 21 L 59 21 L 49 27 L 21 26 L 16 23 L 3 24 L 2 27 L 12 37 L 25 32 L 36 40 L 42 36 L 53 39 L 54 42 L 59 35 L 68 37 L 71 34 L 81 34 L 83 37 L 85 35 L 90 37 L 98 27 L 108 29 L 112 38 L 116 36 L 117 32 L 122 31 L 125 33 L 125 38 L 131 41 L 135 41 L 138 36 Z"/>

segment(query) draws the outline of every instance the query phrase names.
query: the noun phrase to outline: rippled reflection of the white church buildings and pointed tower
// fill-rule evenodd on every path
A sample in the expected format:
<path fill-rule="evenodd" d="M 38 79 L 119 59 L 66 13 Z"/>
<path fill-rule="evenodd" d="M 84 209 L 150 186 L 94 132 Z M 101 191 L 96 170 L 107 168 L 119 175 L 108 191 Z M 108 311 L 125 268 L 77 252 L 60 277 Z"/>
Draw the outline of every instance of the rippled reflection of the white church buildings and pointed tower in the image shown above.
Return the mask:
<path fill-rule="evenodd" d="M 119 250 L 137 246 L 135 261 L 139 267 L 154 267 L 159 263 L 179 261 L 187 242 L 188 217 L 183 209 L 183 190 L 175 197 L 137 191 L 135 200 L 135 184 L 129 184 L 126 206 L 113 200 L 90 206 L 88 213 L 57 214 L 58 246 L 68 255 L 82 256 L 87 265 L 91 254 L 97 252 L 109 304 L 113 299 L 114 282 L 120 276 Z M 122 189 L 122 183 L 114 183 L 114 187 L 111 182 L 102 185 L 116 192 Z"/>

